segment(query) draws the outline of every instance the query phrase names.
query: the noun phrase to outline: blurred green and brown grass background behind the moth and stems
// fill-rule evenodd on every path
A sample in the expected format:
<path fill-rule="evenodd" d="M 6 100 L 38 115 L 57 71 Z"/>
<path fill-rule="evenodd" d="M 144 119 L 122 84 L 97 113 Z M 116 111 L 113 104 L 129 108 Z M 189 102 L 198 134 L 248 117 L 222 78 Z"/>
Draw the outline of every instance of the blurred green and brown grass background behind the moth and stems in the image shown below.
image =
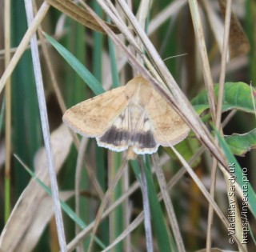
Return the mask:
<path fill-rule="evenodd" d="M 145 4 L 145 2 L 130 1 L 134 14 L 138 13 L 139 4 Z M 191 2 L 194 1 L 190 1 L 190 5 L 192 5 Z M 8 12 L 4 13 L 4 10 L 6 10 L 4 6 L 6 7 L 8 3 L 10 4 L 10 14 Z M 99 17 L 109 21 L 95 1 L 87 3 Z M 42 1 L 37 1 L 38 7 L 41 4 Z M 13 55 L 21 44 L 28 26 L 24 2 L 5 0 L 1 1 L 0 5 L 2 6 L 0 8 L 0 73 L 2 75 L 9 64 L 8 59 L 6 59 L 7 56 L 5 56 L 6 50 L 8 54 L 8 44 L 5 44 L 6 36 L 10 36 L 10 54 Z M 192 100 L 206 87 L 202 70 L 203 63 L 200 59 L 198 41 L 194 34 L 190 7 L 186 1 L 181 0 L 150 2 L 150 11 L 146 17 L 146 30 L 170 73 L 174 76 L 186 97 Z M 199 10 L 212 79 L 214 83 L 218 83 L 222 70 L 222 50 L 219 49 L 217 41 L 220 40 L 222 42 L 223 40 L 221 34 L 224 27 L 222 10 L 225 12 L 225 9 L 222 9 L 217 1 L 203 0 L 199 2 Z M 238 23 L 231 22 L 230 46 L 232 46 L 233 41 L 238 39 L 238 41 L 244 43 L 245 47 L 238 54 L 233 55 L 233 58 L 226 63 L 225 82 L 245 82 L 247 84 L 251 82 L 252 86 L 254 86 L 256 80 L 256 2 L 234 0 L 232 2 L 232 10 L 245 34 L 238 30 Z M 118 11 L 120 11 L 122 18 L 125 20 L 125 14 L 120 9 Z M 4 24 L 8 22 L 9 18 L 10 26 L 9 29 L 5 30 Z M 127 24 L 127 26 L 134 35 L 134 30 L 130 24 Z M 134 70 L 136 69 L 127 63 L 120 46 L 115 46 L 106 34 L 82 26 L 81 23 L 67 17 L 54 7 L 50 7 L 46 17 L 43 18 L 40 29 L 45 31 L 46 34 L 50 34 L 70 54 L 73 54 L 83 66 L 86 66 L 86 69 L 93 74 L 94 78 L 102 83 L 104 90 L 124 85 L 133 78 Z M 122 38 L 124 45 L 128 46 L 129 43 L 125 42 L 125 38 L 122 35 L 118 36 Z M 246 42 L 247 38 L 248 43 Z M 47 43 L 46 50 L 50 58 L 47 58 L 46 51 L 43 50 L 44 43 Z M 234 42 L 234 45 L 236 45 L 235 43 L 237 42 Z M 110 185 L 114 174 L 117 173 L 118 168 L 122 165 L 124 157 L 123 154 L 111 153 L 108 150 L 98 148 L 94 139 L 90 139 L 86 142 L 85 147 L 86 161 L 82 163 L 81 169 L 78 168 L 78 150 L 72 144 L 70 133 L 66 131 L 65 127 L 61 126 L 63 105 L 60 104 L 58 95 L 61 94 L 66 108 L 69 108 L 86 98 L 91 98 L 95 95 L 95 92 L 84 82 L 84 78 L 79 77 L 79 70 L 74 65 L 74 59 L 71 56 L 64 60 L 61 54 L 53 46 L 50 46 L 50 43 L 46 42 L 46 40 L 42 42 L 39 39 L 38 46 L 42 63 L 42 78 L 50 132 L 52 133 L 56 130 L 56 138 L 54 138 L 52 146 L 55 166 L 58 166 L 58 189 L 61 197 L 66 199 L 66 204 L 70 206 L 70 209 L 76 209 L 77 213 L 79 209 L 82 222 L 89 225 L 97 213 L 102 196 L 100 192 L 104 194 L 103 192 Z M 250 50 L 248 50 L 249 46 Z M 130 50 L 134 53 L 133 48 Z M 235 50 L 238 50 L 238 46 L 233 51 Z M 6 66 L 5 60 L 7 60 Z M 74 70 L 74 68 L 76 69 Z M 57 83 L 58 89 L 54 87 L 53 79 Z M 54 208 L 50 205 L 51 199 L 46 197 L 46 194 L 41 194 L 43 190 L 38 186 L 38 182 L 31 186 L 31 174 L 24 169 L 24 164 L 18 161 L 18 158 L 20 158 L 26 166 L 34 171 L 42 168 L 47 170 L 46 157 L 40 156 L 43 146 L 42 122 L 40 121 L 38 95 L 29 47 L 22 54 L 22 58 L 18 60 L 18 64 L 11 74 L 10 84 L 7 85 L 10 87 L 7 87 L 5 92 L 1 93 L 0 230 L 3 230 L 9 220 L 9 222 L 12 222 L 9 231 L 13 234 L 7 239 L 2 232 L 0 250 L 7 251 L 3 250 L 6 246 L 5 244 L 8 242 L 8 244 L 11 244 L 12 242 L 10 241 L 16 241 L 13 242 L 15 246 L 8 251 L 58 251 L 58 235 L 53 215 Z M 206 112 L 204 115 L 207 117 Z M 223 128 L 224 134 L 245 134 L 254 129 L 255 114 L 236 111 L 232 113 L 231 118 L 230 112 L 225 112 L 222 114 L 222 119 L 224 120 L 225 118 L 229 118 L 230 121 Z M 199 150 L 200 145 L 194 135 L 190 134 L 190 138 L 179 145 L 178 150 L 188 160 Z M 250 148 L 254 146 L 255 142 L 250 144 Z M 81 148 L 79 150 L 82 152 Z M 246 150 L 245 152 L 246 154 L 243 157 L 237 157 L 237 159 L 241 167 L 247 168 L 250 183 L 255 190 L 255 150 L 250 152 Z M 174 174 L 178 173 L 181 163 L 178 162 L 178 158 L 174 157 L 174 153 L 170 148 L 160 148 L 159 156 L 158 162 L 164 171 L 166 181 L 169 182 L 174 177 Z M 150 170 L 152 167 L 150 157 L 146 157 L 144 162 L 142 166 Z M 210 175 L 212 162 L 210 151 L 206 151 L 192 165 L 198 178 L 207 189 L 210 188 L 210 181 L 212 180 Z M 110 245 L 114 238 L 122 234 L 122 231 L 129 226 L 129 223 L 141 213 L 143 204 L 142 193 L 138 186 L 139 169 L 136 172 L 138 166 L 139 163 L 137 162 L 129 164 L 130 169 L 126 170 L 122 180 L 115 187 L 114 193 L 111 194 L 108 207 L 114 204 L 122 195 L 125 200 L 113 212 L 108 214 L 107 218 L 99 226 L 97 232 L 98 242 L 94 245 L 94 251 L 103 250 L 102 247 Z M 88 167 L 94 172 L 94 180 L 88 175 Z M 159 180 L 155 175 L 148 179 L 152 179 L 149 191 L 156 196 L 159 191 Z M 49 181 L 44 183 L 49 186 Z M 95 183 L 100 186 L 100 189 L 95 189 Z M 219 170 L 216 183 L 215 201 L 227 218 L 229 214 L 229 205 L 226 197 L 227 187 L 222 172 Z M 30 185 L 30 189 L 28 185 Z M 131 187 L 134 188 L 134 192 L 127 194 L 127 190 Z M 26 191 L 26 194 L 24 194 L 24 191 Z M 41 191 L 41 193 L 35 195 L 35 192 L 38 191 Z M 79 191 L 79 194 L 75 194 L 75 191 Z M 21 202 L 17 204 L 21 195 Z M 80 206 L 75 204 L 75 198 L 79 199 Z M 182 178 L 170 190 L 170 198 L 178 221 L 178 232 L 182 234 L 182 241 L 186 251 L 205 248 L 209 203 L 189 175 L 182 175 Z M 14 209 L 15 204 L 17 204 L 17 208 L 20 208 L 21 212 L 10 218 L 10 211 Z M 150 204 L 151 207 L 152 204 L 157 205 L 156 198 L 150 199 Z M 160 207 L 151 210 L 153 211 L 154 251 L 180 251 L 181 248 L 177 245 L 177 242 L 174 242 L 173 234 L 175 232 L 170 227 L 166 205 L 160 203 L 158 206 Z M 238 199 L 238 206 L 241 209 L 241 198 Z M 67 213 L 63 214 L 63 221 L 66 241 L 70 242 L 76 238 L 80 229 L 75 226 L 75 223 L 79 225 L 79 220 L 68 216 L 71 214 L 71 210 L 67 210 Z M 247 217 L 250 222 L 250 232 L 248 234 L 248 244 L 244 246 L 243 250 L 254 251 L 255 216 L 248 210 Z M 165 223 L 164 228 L 159 227 L 156 222 Z M 11 232 L 12 229 L 16 231 Z M 17 230 L 19 230 L 19 236 L 15 236 Z M 241 247 L 230 245 L 230 236 L 228 234 L 226 227 L 214 215 L 211 233 L 212 247 L 218 247 L 219 251 L 224 249 L 242 251 Z M 161 242 L 159 236 L 168 240 Z M 90 236 L 86 236 L 86 238 L 82 239 L 82 246 L 79 249 L 86 251 L 89 242 Z M 166 243 L 166 246 L 163 245 L 164 243 Z M 138 222 L 135 230 L 128 230 L 126 239 L 110 250 L 128 251 L 127 248 L 130 251 L 146 250 L 143 222 Z"/>

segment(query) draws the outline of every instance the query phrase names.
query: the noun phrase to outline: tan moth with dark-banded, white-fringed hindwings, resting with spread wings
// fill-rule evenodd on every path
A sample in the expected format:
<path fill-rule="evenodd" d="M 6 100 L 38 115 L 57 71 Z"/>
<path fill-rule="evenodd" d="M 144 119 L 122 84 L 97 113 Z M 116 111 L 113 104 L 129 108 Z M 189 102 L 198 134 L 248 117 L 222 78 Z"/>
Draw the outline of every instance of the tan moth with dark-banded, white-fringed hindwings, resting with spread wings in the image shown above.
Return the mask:
<path fill-rule="evenodd" d="M 190 132 L 142 76 L 72 106 L 62 119 L 78 134 L 96 138 L 98 146 L 114 151 L 129 148 L 135 154 L 153 154 L 159 145 L 175 145 Z"/>

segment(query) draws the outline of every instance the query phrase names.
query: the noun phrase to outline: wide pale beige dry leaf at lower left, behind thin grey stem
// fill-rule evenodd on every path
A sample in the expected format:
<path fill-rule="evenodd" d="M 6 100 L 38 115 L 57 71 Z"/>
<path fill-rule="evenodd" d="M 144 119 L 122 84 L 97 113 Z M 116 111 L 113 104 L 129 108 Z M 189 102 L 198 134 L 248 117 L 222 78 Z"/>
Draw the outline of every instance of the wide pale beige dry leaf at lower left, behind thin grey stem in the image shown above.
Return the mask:
<path fill-rule="evenodd" d="M 51 134 L 51 142 L 54 150 L 55 172 L 62 167 L 67 155 L 70 152 L 72 138 L 68 134 L 66 126 L 62 125 Z M 50 185 L 49 176 L 46 170 L 47 158 L 46 150 L 40 149 L 34 158 L 34 169 L 38 174 L 38 178 L 46 184 Z M 38 185 L 34 179 L 31 179 L 26 190 L 18 199 L 14 206 L 8 222 L 0 237 L 0 249 L 2 251 L 16 251 L 22 244 L 22 236 L 26 234 L 34 218 L 37 216 L 37 207 L 42 198 L 46 196 L 46 192 Z"/>

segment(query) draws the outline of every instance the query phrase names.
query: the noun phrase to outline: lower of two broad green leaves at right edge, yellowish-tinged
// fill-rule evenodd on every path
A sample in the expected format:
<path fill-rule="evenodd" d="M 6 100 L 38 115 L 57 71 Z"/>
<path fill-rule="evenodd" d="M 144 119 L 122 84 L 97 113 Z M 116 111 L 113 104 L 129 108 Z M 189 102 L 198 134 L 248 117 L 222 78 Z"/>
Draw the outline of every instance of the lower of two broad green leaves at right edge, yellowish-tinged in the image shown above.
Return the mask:
<path fill-rule="evenodd" d="M 256 148 L 256 129 L 247 132 L 246 134 L 232 134 L 225 136 L 227 144 L 233 154 L 244 156 L 247 151 Z"/>

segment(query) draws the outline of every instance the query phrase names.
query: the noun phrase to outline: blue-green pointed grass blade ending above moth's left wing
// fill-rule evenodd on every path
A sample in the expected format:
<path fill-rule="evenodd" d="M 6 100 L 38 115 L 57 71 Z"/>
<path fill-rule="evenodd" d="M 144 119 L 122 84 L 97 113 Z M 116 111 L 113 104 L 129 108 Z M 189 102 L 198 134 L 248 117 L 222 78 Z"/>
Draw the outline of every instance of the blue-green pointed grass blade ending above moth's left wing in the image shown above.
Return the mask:
<path fill-rule="evenodd" d="M 102 88 L 101 83 L 98 82 L 97 78 L 94 78 L 94 75 L 90 73 L 86 66 L 83 66 L 82 63 L 79 62 L 73 54 L 70 54 L 70 52 L 66 50 L 66 48 L 62 46 L 59 42 L 57 42 L 54 38 L 50 37 L 46 33 L 44 33 L 44 35 L 47 40 L 52 44 L 52 46 L 54 46 L 54 48 L 58 50 L 58 53 L 66 59 L 66 62 L 68 62 L 70 66 L 78 73 L 82 80 L 86 82 L 86 84 L 90 87 L 94 94 L 98 95 L 105 92 L 105 90 Z"/>

